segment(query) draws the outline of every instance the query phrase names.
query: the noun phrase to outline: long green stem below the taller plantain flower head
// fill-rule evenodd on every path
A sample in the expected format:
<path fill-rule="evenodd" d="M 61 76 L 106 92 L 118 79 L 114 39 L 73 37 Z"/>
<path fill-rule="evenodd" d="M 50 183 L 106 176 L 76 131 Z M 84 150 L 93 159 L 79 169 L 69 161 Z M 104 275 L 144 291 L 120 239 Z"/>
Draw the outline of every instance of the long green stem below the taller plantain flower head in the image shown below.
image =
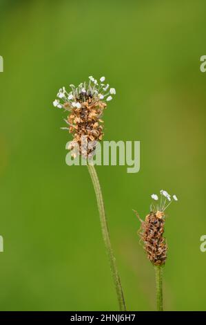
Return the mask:
<path fill-rule="evenodd" d="M 119 272 L 116 268 L 116 260 L 114 257 L 114 253 L 112 251 L 112 245 L 110 242 L 110 234 L 109 234 L 109 230 L 108 230 L 108 226 L 107 226 L 107 219 L 105 216 L 105 208 L 104 208 L 104 203 L 103 203 L 103 196 L 101 193 L 101 187 L 99 184 L 99 178 L 96 174 L 96 170 L 94 165 L 87 165 L 89 172 L 90 172 L 90 176 L 92 178 L 92 183 L 94 185 L 94 192 L 96 194 L 96 201 L 97 201 L 97 205 L 99 208 L 99 215 L 100 215 L 100 221 L 101 221 L 101 230 L 102 230 L 102 234 L 103 234 L 103 241 L 105 243 L 105 248 L 107 250 L 107 255 L 109 257 L 110 260 L 110 268 L 112 271 L 112 277 L 114 280 L 114 286 L 116 288 L 116 295 L 119 301 L 119 309 L 121 311 L 126 310 L 126 306 L 125 306 L 125 299 L 124 299 L 124 295 L 123 295 L 123 290 L 121 287 L 121 280 L 119 277 Z"/>

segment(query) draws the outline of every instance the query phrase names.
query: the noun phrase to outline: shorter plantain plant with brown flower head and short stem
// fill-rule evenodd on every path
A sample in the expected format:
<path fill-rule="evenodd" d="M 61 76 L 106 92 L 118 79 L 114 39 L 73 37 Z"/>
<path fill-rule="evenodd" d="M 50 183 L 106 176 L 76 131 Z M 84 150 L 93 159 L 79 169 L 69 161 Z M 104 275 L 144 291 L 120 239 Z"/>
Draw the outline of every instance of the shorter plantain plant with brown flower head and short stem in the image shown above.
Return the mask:
<path fill-rule="evenodd" d="M 176 195 L 171 196 L 161 190 L 161 198 L 152 194 L 155 203 L 150 206 L 150 214 L 147 214 L 143 221 L 135 211 L 141 221 L 141 228 L 138 234 L 141 237 L 143 248 L 147 253 L 155 268 L 156 273 L 156 304 L 157 310 L 163 310 L 163 266 L 167 259 L 167 242 L 163 236 L 165 231 L 165 210 L 172 203 L 178 201 Z"/>

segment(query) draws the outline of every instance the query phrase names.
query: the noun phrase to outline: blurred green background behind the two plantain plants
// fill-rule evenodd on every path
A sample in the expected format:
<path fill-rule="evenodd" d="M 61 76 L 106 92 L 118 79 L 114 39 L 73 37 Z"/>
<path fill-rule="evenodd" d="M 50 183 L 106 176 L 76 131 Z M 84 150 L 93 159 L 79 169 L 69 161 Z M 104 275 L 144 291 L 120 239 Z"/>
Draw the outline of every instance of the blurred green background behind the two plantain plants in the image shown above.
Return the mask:
<path fill-rule="evenodd" d="M 116 310 L 86 167 L 65 164 L 58 89 L 116 88 L 105 140 L 141 140 L 141 171 L 97 167 L 128 310 L 155 310 L 138 244 L 150 194 L 167 210 L 165 310 L 206 310 L 204 0 L 0 1 L 0 310 Z"/>

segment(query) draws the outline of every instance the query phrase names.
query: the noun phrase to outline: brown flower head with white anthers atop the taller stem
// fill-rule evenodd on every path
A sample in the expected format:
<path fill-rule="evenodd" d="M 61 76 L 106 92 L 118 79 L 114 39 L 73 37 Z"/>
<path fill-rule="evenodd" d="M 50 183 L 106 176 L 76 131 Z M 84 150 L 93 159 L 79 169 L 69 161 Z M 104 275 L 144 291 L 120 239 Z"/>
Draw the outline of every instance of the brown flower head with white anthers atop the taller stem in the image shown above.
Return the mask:
<path fill-rule="evenodd" d="M 109 89 L 109 84 L 103 84 L 105 77 L 98 82 L 90 75 L 88 82 L 82 82 L 78 87 L 70 84 L 71 91 L 67 92 L 65 87 L 59 89 L 53 105 L 58 109 L 70 112 L 65 122 L 68 127 L 62 129 L 72 133 L 73 140 L 70 149 L 78 147 L 78 154 L 84 158 L 92 158 L 95 154 L 96 143 L 103 138 L 103 110 L 106 102 L 112 100 L 116 94 L 114 88 Z M 86 149 L 83 148 L 82 140 L 87 142 Z M 78 146 L 77 146 L 78 145 Z"/>

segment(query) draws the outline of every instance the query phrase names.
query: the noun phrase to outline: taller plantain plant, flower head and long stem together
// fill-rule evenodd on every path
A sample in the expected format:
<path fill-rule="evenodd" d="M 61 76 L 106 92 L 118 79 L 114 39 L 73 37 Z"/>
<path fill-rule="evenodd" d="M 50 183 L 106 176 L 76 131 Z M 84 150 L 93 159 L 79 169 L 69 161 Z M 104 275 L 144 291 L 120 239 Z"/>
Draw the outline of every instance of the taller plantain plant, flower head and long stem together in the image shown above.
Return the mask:
<path fill-rule="evenodd" d="M 69 149 L 72 150 L 73 157 L 76 158 L 77 155 L 81 155 L 87 160 L 87 167 L 92 178 L 96 201 L 99 207 L 103 240 L 110 260 L 119 308 L 120 310 L 126 310 L 119 272 L 116 268 L 116 261 L 110 242 L 99 178 L 94 164 L 92 164 L 96 143 L 103 138 L 103 120 L 101 120 L 103 110 L 107 106 L 106 103 L 112 100 L 112 95 L 116 93 L 114 88 L 110 88 L 109 84 L 104 84 L 103 82 L 105 82 L 105 77 L 101 77 L 100 82 L 97 82 L 94 77 L 90 76 L 88 82 L 83 82 L 78 87 L 70 84 L 71 91 L 69 92 L 63 87 L 57 93 L 57 99 L 54 100 L 53 104 L 58 109 L 64 109 L 69 112 L 68 118 L 65 119 L 68 127 L 63 129 L 67 129 L 72 133 L 73 140 L 70 142 Z M 85 141 L 82 141 L 83 138 L 86 141 L 85 146 L 82 145 L 85 143 Z M 76 151 L 75 148 L 77 148 Z"/>

